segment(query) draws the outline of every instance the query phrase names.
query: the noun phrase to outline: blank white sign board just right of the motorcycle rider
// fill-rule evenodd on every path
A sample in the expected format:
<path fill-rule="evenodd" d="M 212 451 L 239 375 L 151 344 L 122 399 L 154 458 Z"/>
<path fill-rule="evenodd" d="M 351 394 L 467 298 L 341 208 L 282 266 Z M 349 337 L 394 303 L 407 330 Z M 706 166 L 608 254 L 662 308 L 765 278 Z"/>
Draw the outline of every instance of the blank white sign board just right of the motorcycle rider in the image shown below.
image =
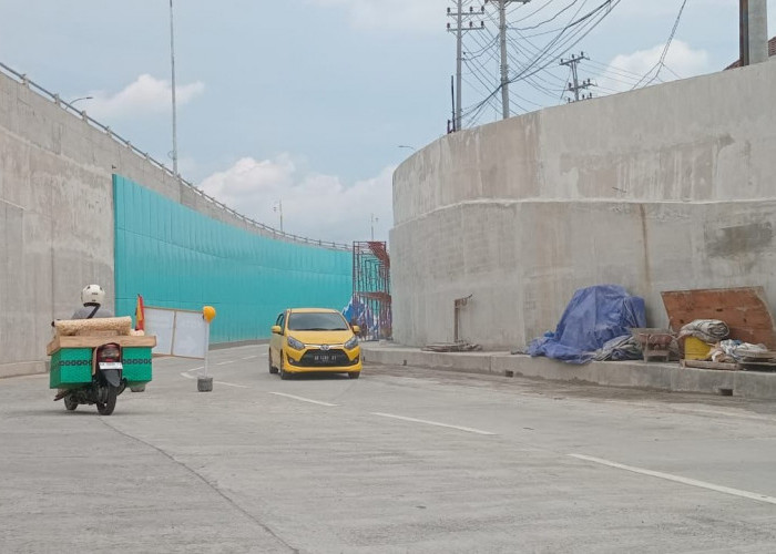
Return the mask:
<path fill-rule="evenodd" d="M 204 358 L 207 352 L 207 322 L 202 311 L 167 308 L 144 309 L 145 334 L 156 336 L 153 353 Z"/>

